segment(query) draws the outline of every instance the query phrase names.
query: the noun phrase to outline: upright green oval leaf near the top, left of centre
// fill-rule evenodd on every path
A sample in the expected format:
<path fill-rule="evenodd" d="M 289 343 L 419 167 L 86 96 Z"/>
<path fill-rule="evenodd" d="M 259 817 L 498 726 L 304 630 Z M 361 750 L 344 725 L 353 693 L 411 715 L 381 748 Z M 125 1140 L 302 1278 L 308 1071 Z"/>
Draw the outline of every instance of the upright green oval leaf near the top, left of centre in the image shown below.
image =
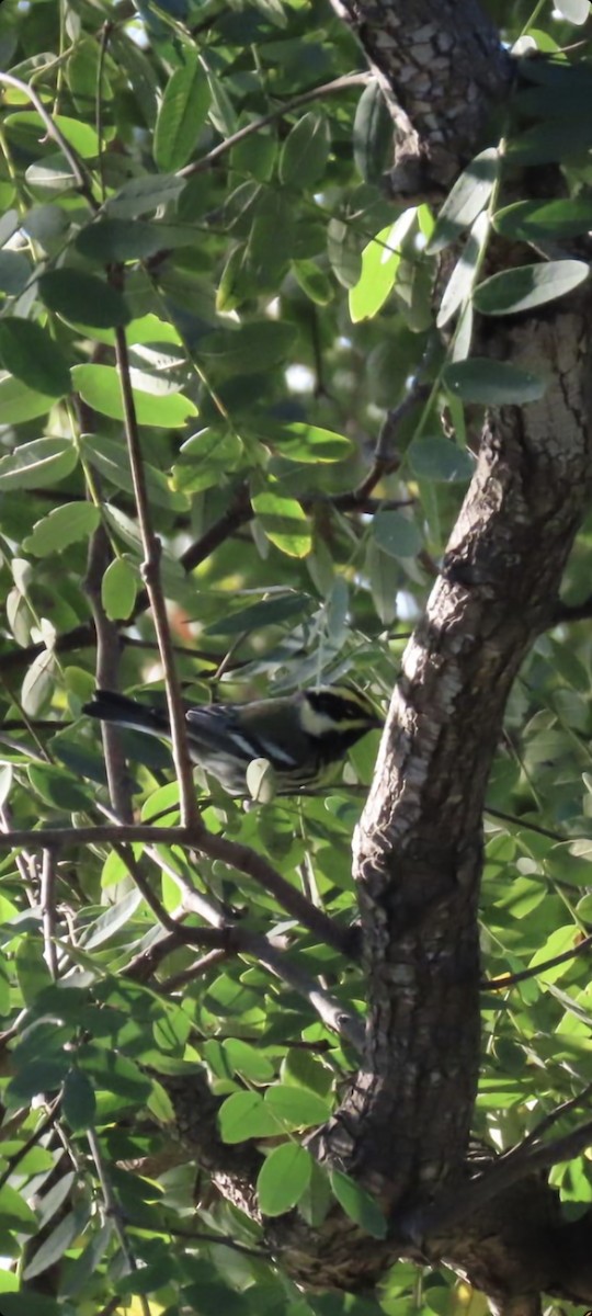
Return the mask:
<path fill-rule="evenodd" d="M 185 46 L 184 59 L 168 79 L 154 129 L 154 159 L 171 172 L 189 159 L 212 101 L 200 55 Z"/>

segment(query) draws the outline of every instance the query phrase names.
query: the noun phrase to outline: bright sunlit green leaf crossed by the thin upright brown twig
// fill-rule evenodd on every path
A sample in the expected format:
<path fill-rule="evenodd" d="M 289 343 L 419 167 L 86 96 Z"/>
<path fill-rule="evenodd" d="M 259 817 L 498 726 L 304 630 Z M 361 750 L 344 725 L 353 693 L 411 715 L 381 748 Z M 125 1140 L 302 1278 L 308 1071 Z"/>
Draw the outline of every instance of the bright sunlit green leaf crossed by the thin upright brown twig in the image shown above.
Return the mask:
<path fill-rule="evenodd" d="M 132 383 L 136 376 L 137 372 L 132 371 Z M 124 420 L 120 378 L 113 366 L 74 366 L 72 380 L 84 401 L 101 416 Z M 184 425 L 189 416 L 197 415 L 195 404 L 183 393 L 158 396 L 134 387 L 133 395 L 138 425 L 175 429 Z"/>

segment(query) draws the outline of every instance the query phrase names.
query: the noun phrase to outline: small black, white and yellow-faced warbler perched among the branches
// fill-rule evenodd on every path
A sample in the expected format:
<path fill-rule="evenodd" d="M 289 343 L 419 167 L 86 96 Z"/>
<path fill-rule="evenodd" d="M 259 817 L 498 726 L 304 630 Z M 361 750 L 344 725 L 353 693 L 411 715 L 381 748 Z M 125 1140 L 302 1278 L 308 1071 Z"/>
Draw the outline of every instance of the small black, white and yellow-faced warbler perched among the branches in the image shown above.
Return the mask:
<path fill-rule="evenodd" d="M 111 690 L 97 690 L 83 712 L 171 740 L 166 711 Z M 271 765 L 276 795 L 314 788 L 351 745 L 382 725 L 366 695 L 350 686 L 320 686 L 250 704 L 207 704 L 188 708 L 185 719 L 192 762 L 229 795 L 249 794 L 247 770 L 255 759 Z"/>

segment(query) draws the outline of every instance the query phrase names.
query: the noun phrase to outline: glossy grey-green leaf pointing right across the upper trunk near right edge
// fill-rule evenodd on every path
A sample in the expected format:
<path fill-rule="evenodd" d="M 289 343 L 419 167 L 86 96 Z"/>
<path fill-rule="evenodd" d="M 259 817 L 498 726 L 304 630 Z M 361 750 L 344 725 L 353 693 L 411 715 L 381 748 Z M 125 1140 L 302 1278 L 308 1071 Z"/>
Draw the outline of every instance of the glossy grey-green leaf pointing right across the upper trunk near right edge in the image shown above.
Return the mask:
<path fill-rule="evenodd" d="M 547 265 L 522 265 L 504 270 L 480 283 L 474 292 L 474 305 L 484 316 L 518 315 L 546 301 L 555 301 L 578 288 L 588 278 L 583 261 L 550 261 Z"/>

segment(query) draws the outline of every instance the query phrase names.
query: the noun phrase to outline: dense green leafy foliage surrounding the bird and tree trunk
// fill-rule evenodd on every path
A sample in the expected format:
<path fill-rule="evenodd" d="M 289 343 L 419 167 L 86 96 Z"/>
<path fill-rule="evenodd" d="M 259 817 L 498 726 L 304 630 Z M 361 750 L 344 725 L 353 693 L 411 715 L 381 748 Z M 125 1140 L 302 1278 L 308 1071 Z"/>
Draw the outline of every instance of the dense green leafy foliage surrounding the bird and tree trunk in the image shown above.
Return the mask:
<path fill-rule="evenodd" d="M 504 39 L 522 34 L 546 53 L 583 21 L 566 0 L 547 30 L 538 16 L 529 34 L 518 5 L 495 8 Z M 0 1233 L 11 1261 L 0 1305 L 84 1316 L 114 1295 L 117 1311 L 143 1316 L 370 1316 L 420 1302 L 450 1311 L 463 1294 L 451 1299 L 442 1277 L 428 1277 L 420 1300 L 407 1265 L 372 1302 L 303 1298 L 238 1211 L 207 1195 L 195 1209 L 195 1166 L 155 1169 L 172 1125 L 166 1079 L 205 1066 L 225 1098 L 222 1138 L 272 1140 L 259 1177 L 266 1215 L 297 1204 L 318 1221 L 333 1191 L 380 1237 L 372 1199 L 345 1175 L 329 1183 L 300 1144 L 338 1101 L 351 1048 L 254 955 L 199 963 L 195 948 L 176 945 L 146 980 L 154 900 L 171 919 L 193 883 L 247 930 L 287 938 L 353 1015 L 364 1005 L 359 967 L 295 929 L 238 867 L 189 866 L 168 840 L 151 846 L 149 905 L 121 849 L 72 838 L 43 850 L 43 828 L 99 824 L 109 803 L 97 733 L 82 716 L 95 672 L 84 582 L 88 571 L 96 583 L 99 530 L 121 684 L 162 690 L 126 449 L 128 367 L 187 697 L 249 699 L 345 675 L 388 699 L 474 470 L 475 411 L 466 420 L 463 403 L 479 418 L 488 403 L 528 404 L 545 390 L 528 362 L 467 359 L 472 308 L 518 313 L 588 274 L 560 242 L 591 225 L 592 72 L 562 55 L 526 61 L 503 125 L 510 162 L 566 162 L 564 200 L 506 195 L 496 141 L 435 218 L 388 199 L 382 99 L 316 0 L 167 0 L 138 13 L 108 0 L 4 0 L 0 62 L 1 821 L 39 833 L 38 850 L 30 838 L 0 866 Z M 549 242 L 553 259 L 485 278 L 492 233 L 537 251 Z M 462 236 L 442 288 L 442 253 Z M 570 599 L 587 591 L 591 533 L 570 565 Z M 589 647 L 584 629 L 543 637 L 508 709 L 485 822 L 488 978 L 574 951 L 588 930 Z M 174 824 L 168 753 L 133 733 L 125 749 L 138 817 Z M 203 817 L 213 834 L 268 854 L 346 928 L 350 838 L 375 749 L 362 742 L 326 797 L 245 812 L 201 783 Z M 187 920 L 196 936 L 204 924 Z M 508 1146 L 592 1079 L 591 1009 L 574 957 L 484 995 L 476 1133 Z M 585 1158 L 554 1175 L 566 1211 L 589 1200 Z"/>

